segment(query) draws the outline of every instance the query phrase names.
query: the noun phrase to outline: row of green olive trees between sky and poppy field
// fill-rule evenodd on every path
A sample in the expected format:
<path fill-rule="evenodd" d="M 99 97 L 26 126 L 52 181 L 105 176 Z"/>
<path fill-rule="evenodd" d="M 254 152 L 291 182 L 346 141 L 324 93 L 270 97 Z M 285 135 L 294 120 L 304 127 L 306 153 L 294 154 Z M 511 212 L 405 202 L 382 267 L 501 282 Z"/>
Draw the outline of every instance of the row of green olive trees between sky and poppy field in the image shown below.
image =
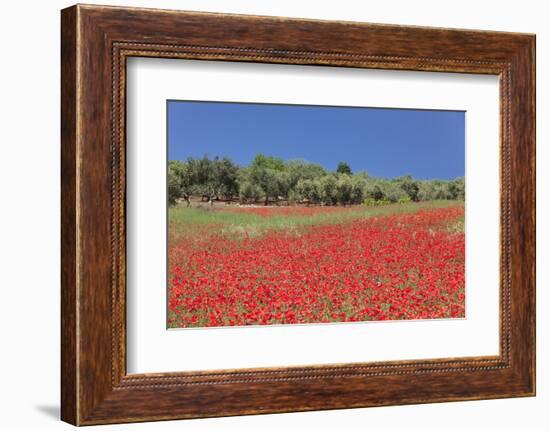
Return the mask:
<path fill-rule="evenodd" d="M 323 205 L 386 202 L 464 200 L 464 178 L 416 180 L 410 175 L 378 178 L 353 173 L 345 162 L 336 171 L 305 160 L 283 161 L 258 154 L 249 166 L 237 166 L 228 157 L 189 158 L 168 163 L 168 201 L 190 203 L 196 196 L 241 203 L 307 203 Z"/>

